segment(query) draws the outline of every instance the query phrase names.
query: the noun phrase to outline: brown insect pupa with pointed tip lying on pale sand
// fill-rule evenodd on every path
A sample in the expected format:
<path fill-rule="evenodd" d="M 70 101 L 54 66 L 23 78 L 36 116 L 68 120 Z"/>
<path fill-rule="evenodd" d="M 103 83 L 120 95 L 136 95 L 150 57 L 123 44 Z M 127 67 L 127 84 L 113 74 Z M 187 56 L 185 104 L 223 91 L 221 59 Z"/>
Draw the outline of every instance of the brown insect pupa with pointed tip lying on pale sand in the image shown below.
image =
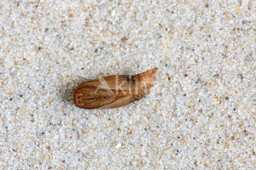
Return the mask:
<path fill-rule="evenodd" d="M 155 67 L 132 76 L 112 75 L 83 82 L 74 89 L 74 103 L 83 109 L 125 106 L 150 92 L 157 70 Z"/>

